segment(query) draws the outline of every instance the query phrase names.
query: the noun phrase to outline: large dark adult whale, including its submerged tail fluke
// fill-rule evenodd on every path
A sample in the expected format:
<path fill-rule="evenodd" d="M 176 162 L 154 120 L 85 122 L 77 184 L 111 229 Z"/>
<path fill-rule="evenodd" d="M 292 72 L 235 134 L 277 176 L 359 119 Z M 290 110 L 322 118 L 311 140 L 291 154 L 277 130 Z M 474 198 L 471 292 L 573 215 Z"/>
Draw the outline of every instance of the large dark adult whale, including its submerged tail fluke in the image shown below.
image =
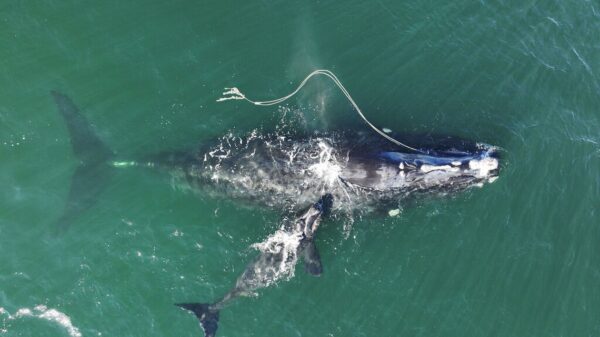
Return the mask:
<path fill-rule="evenodd" d="M 93 205 L 114 167 L 158 169 L 168 172 L 175 185 L 202 195 L 293 212 L 324 193 L 338 200 L 334 211 L 389 210 L 410 195 L 445 195 L 493 182 L 499 171 L 493 146 L 428 136 L 414 138 L 420 146 L 407 151 L 366 131 L 299 135 L 255 130 L 195 149 L 120 161 L 69 97 L 52 94 L 79 163 L 60 228 Z"/>

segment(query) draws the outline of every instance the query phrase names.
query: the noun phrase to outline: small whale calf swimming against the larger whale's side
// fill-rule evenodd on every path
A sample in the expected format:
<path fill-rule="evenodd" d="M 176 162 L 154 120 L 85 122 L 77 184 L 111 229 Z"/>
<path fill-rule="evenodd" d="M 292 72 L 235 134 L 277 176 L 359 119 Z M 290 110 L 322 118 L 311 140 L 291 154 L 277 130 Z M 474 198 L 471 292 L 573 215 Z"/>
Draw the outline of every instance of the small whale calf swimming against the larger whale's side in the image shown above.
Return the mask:
<path fill-rule="evenodd" d="M 219 311 L 239 296 L 253 295 L 256 290 L 275 284 L 293 275 L 298 256 L 304 258 L 306 270 L 320 275 L 321 260 L 314 245 L 314 237 L 323 216 L 333 202 L 331 194 L 325 194 L 310 206 L 304 214 L 284 225 L 261 244 L 255 245 L 261 253 L 248 264 L 238 277 L 235 286 L 214 303 L 178 303 L 179 307 L 192 311 L 204 330 L 206 337 L 216 334 Z"/>

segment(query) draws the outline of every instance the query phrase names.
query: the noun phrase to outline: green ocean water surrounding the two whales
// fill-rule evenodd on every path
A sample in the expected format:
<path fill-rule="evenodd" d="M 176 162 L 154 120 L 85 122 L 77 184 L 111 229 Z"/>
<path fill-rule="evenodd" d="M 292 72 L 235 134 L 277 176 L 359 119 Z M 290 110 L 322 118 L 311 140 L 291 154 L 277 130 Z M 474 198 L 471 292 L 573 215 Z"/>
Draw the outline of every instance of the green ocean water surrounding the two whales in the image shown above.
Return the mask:
<path fill-rule="evenodd" d="M 51 90 L 134 158 L 272 130 L 280 109 L 222 88 L 274 99 L 321 68 L 377 126 L 501 147 L 500 178 L 324 222 L 323 275 L 234 302 L 218 336 L 600 335 L 597 1 L 8 0 L 0 42 L 0 336 L 202 336 L 173 303 L 224 294 L 279 226 L 130 168 L 56 235 L 78 159 Z M 361 125 L 325 80 L 286 107 Z"/>

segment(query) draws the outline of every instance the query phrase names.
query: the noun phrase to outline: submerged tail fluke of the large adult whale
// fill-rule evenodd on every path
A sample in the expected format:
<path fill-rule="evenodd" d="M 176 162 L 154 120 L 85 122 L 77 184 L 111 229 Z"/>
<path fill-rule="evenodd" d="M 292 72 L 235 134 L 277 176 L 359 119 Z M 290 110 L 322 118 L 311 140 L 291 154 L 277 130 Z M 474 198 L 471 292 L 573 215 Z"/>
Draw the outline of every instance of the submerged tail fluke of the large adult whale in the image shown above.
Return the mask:
<path fill-rule="evenodd" d="M 102 192 L 111 175 L 108 161 L 113 152 L 98 138 L 92 125 L 66 95 L 51 92 L 69 135 L 73 153 L 79 165 L 73 174 L 69 197 L 57 230 L 65 231 L 83 211 L 90 208 Z"/>

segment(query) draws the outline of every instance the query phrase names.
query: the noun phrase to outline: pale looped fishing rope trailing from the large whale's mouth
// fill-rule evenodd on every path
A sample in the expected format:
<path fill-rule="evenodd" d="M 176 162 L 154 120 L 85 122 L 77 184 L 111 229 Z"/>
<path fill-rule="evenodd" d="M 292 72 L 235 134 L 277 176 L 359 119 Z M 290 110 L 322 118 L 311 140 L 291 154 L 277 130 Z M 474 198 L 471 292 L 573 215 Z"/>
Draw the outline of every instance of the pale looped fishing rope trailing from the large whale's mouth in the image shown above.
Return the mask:
<path fill-rule="evenodd" d="M 419 149 L 416 149 L 412 146 L 408 146 L 408 145 L 406 145 L 402 142 L 399 142 L 396 139 L 386 135 L 385 132 L 381 131 L 375 125 L 373 125 L 371 122 L 369 122 L 369 120 L 362 113 L 362 111 L 360 110 L 360 108 L 358 107 L 358 105 L 356 104 L 354 99 L 352 99 L 352 97 L 350 96 L 350 93 L 348 93 L 348 90 L 346 90 L 346 88 L 344 87 L 342 82 L 340 82 L 340 80 L 337 78 L 337 76 L 335 76 L 331 71 L 326 70 L 326 69 L 318 69 L 318 70 L 313 71 L 308 76 L 306 76 L 306 78 L 300 83 L 300 85 L 296 88 L 296 90 L 292 91 L 287 96 L 283 96 L 278 99 L 274 99 L 274 100 L 270 100 L 270 101 L 262 101 L 262 102 L 253 101 L 253 100 L 247 98 L 246 95 L 244 95 L 238 88 L 233 87 L 233 88 L 225 88 L 226 91 L 223 92 L 223 97 L 217 99 L 217 102 L 223 102 L 223 101 L 228 101 L 228 100 L 232 100 L 232 99 L 233 100 L 241 99 L 241 100 L 245 100 L 247 102 L 250 102 L 250 103 L 252 103 L 254 105 L 258 105 L 258 106 L 270 106 L 270 105 L 279 104 L 279 103 L 282 103 L 282 102 L 286 101 L 287 99 L 291 98 L 295 94 L 297 94 L 298 91 L 300 91 L 300 89 L 302 89 L 302 87 L 304 87 L 306 82 L 308 82 L 309 79 L 311 79 L 313 76 L 316 76 L 316 75 L 325 75 L 325 76 L 327 76 L 327 78 L 331 79 L 333 81 L 333 83 L 335 83 L 335 85 L 337 85 L 338 88 L 342 91 L 344 96 L 346 96 L 348 101 L 350 101 L 350 104 L 352 104 L 352 106 L 354 107 L 354 109 L 356 110 L 358 115 L 365 121 L 365 123 L 367 123 L 367 125 L 369 125 L 373 130 L 375 130 L 375 132 L 380 134 L 383 138 L 389 140 L 390 142 L 392 142 L 398 146 L 403 146 L 409 150 L 420 152 L 420 153 L 425 153 Z"/>

